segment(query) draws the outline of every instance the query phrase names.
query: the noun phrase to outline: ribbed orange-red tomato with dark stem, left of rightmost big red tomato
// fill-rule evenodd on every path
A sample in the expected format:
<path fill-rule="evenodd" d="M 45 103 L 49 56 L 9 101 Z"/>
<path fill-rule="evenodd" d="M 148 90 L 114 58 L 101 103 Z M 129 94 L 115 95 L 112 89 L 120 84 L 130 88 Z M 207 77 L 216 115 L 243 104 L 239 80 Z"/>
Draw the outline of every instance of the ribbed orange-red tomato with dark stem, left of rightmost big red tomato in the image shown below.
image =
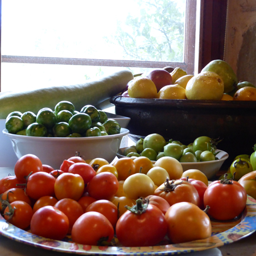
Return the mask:
<path fill-rule="evenodd" d="M 199 194 L 196 188 L 185 180 L 168 180 L 156 188 L 155 195 L 163 197 L 170 206 L 180 202 L 199 205 Z"/>

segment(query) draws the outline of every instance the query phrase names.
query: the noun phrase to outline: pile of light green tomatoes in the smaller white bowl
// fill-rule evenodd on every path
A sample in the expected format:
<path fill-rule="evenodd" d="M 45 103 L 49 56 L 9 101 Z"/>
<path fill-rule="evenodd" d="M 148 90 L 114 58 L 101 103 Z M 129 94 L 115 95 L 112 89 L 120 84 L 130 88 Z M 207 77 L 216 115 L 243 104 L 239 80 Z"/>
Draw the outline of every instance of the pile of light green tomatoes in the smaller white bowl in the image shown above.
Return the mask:
<path fill-rule="evenodd" d="M 201 136 L 192 143 L 185 145 L 173 139 L 166 142 L 162 135 L 153 133 L 147 135 L 144 139 L 139 139 L 135 146 L 125 148 L 123 155 L 133 158 L 146 156 L 153 161 L 163 156 L 171 156 L 181 163 L 207 162 L 217 159 L 216 146 L 220 141 Z"/>

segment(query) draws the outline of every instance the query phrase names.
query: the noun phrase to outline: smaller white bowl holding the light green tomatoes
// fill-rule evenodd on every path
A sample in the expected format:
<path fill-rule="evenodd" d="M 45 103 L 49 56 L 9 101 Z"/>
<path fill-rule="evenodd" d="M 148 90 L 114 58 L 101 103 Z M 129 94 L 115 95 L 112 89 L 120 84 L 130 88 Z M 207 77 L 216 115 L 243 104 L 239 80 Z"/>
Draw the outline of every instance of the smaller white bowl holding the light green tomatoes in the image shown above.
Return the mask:
<path fill-rule="evenodd" d="M 123 156 L 122 153 L 125 150 L 125 148 L 120 148 L 117 157 L 118 158 L 124 158 L 126 156 Z M 212 179 L 214 175 L 217 174 L 217 172 L 220 170 L 222 164 L 224 161 L 229 157 L 228 153 L 222 150 L 216 150 L 220 151 L 217 154 L 218 160 L 208 161 L 208 162 L 196 162 L 196 163 L 181 163 L 181 166 L 183 167 L 183 171 L 187 171 L 190 169 L 197 169 L 203 172 L 208 180 Z M 155 161 L 152 161 L 152 163 L 155 163 Z"/>

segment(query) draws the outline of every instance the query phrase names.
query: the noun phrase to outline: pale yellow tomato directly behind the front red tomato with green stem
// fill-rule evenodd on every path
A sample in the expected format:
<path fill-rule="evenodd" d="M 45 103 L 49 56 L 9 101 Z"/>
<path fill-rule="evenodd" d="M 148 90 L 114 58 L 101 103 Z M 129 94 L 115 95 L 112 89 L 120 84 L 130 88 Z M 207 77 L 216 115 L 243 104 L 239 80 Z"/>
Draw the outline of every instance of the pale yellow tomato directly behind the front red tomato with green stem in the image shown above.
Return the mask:
<path fill-rule="evenodd" d="M 133 174 L 123 183 L 127 197 L 137 200 L 139 197 L 154 195 L 155 184 L 146 174 Z"/>

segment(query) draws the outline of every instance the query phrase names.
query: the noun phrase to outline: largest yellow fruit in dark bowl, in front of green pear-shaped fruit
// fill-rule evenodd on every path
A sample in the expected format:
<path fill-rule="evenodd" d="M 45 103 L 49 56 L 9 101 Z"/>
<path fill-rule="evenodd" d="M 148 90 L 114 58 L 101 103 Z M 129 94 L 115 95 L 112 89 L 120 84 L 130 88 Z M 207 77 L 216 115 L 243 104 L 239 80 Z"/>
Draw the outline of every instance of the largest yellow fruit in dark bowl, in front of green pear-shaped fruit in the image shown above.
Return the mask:
<path fill-rule="evenodd" d="M 220 100 L 224 82 L 214 72 L 201 72 L 188 81 L 185 93 L 188 100 Z"/>

